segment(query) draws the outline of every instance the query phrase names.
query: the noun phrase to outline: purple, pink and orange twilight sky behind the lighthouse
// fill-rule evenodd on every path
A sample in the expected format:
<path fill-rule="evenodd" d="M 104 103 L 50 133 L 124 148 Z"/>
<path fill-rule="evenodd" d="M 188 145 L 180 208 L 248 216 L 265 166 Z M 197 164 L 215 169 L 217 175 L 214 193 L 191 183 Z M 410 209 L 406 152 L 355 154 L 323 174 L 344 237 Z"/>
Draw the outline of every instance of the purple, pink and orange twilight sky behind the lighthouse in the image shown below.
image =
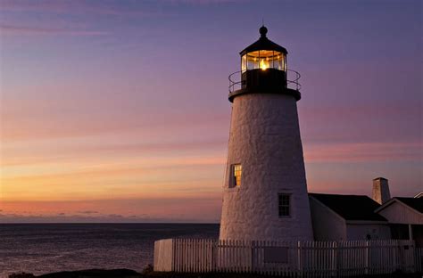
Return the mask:
<path fill-rule="evenodd" d="M 423 190 L 422 2 L 0 1 L 0 222 L 220 220 L 239 52 L 302 78 L 309 192 Z"/>

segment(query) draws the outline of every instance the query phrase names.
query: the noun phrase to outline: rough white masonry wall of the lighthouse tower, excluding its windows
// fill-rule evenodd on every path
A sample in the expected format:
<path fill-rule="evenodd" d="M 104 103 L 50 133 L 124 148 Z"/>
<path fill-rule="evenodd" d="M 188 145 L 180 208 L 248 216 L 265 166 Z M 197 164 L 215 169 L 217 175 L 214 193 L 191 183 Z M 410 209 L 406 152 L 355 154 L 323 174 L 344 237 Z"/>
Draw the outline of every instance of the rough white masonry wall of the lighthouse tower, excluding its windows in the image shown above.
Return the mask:
<path fill-rule="evenodd" d="M 242 185 L 228 188 L 230 165 Z M 278 217 L 278 193 L 292 194 L 292 217 Z M 312 240 L 296 102 L 286 94 L 245 94 L 232 105 L 221 240 Z"/>

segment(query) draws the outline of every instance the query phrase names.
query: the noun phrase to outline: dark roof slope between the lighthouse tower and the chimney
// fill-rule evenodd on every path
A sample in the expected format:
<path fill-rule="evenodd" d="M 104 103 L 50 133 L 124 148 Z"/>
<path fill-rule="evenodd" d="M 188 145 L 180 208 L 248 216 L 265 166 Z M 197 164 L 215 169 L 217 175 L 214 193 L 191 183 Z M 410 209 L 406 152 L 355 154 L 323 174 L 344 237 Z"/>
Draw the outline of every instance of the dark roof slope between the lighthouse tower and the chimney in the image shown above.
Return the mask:
<path fill-rule="evenodd" d="M 380 205 L 364 195 L 336 195 L 309 193 L 345 220 L 387 221 L 375 212 Z"/>

